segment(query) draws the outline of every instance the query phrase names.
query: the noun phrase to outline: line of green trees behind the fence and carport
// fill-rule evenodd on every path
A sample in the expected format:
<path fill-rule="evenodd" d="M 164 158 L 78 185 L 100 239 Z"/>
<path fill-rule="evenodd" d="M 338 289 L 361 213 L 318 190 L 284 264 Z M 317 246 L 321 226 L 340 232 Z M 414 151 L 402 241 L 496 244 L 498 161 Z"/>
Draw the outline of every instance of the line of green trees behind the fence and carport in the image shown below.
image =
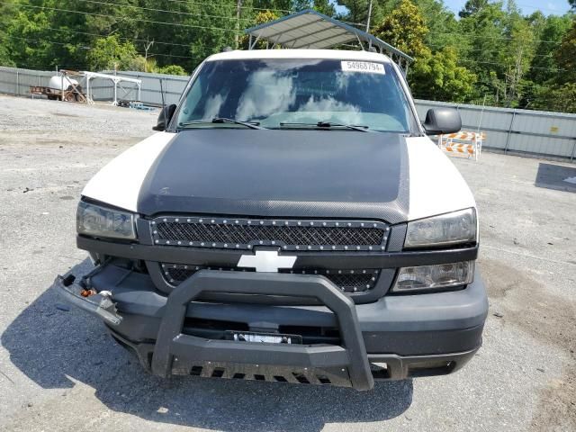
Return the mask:
<path fill-rule="evenodd" d="M 515 0 L 468 0 L 456 19 L 442 0 L 410 1 L 373 0 L 370 27 L 416 58 L 408 75 L 416 96 L 576 112 L 573 13 L 526 15 Z M 290 11 L 314 8 L 365 30 L 370 3 L 241 0 L 238 9 L 238 0 L 6 0 L 0 65 L 186 75 L 225 47 L 246 48 L 243 29 Z M 337 13 L 334 4 L 346 9 Z"/>

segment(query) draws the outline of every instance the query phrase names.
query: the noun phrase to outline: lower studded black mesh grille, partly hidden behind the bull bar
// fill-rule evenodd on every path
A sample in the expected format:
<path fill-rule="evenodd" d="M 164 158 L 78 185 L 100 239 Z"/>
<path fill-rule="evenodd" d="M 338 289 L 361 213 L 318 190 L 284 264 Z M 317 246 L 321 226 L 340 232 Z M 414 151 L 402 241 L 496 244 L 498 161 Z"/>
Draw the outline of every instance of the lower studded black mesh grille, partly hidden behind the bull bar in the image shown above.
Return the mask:
<path fill-rule="evenodd" d="M 184 266 L 180 264 L 162 264 L 161 266 L 166 282 L 173 286 L 181 284 L 188 277 L 202 269 L 237 272 L 251 271 L 248 269 L 238 269 L 236 267 Z M 380 275 L 380 271 L 374 268 L 356 270 L 294 269 L 280 270 L 280 273 L 326 276 L 332 284 L 335 284 L 346 293 L 361 293 L 371 290 L 378 280 L 378 275 Z"/>

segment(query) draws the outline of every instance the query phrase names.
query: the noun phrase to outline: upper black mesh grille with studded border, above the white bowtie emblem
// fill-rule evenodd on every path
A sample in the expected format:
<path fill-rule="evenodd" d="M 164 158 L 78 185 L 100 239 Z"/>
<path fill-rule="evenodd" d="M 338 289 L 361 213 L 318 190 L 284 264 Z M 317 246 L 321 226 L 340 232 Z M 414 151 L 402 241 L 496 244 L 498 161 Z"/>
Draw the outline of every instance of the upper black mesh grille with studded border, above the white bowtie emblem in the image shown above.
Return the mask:
<path fill-rule="evenodd" d="M 378 221 L 250 220 L 160 217 L 151 221 L 157 245 L 284 250 L 383 250 L 389 228 Z"/>

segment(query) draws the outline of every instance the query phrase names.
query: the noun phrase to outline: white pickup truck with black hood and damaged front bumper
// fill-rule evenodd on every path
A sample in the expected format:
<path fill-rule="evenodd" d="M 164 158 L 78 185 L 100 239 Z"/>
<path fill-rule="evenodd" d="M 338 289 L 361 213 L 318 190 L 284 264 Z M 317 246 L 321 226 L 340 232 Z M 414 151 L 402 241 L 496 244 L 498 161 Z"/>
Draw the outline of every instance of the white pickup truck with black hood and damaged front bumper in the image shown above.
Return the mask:
<path fill-rule="evenodd" d="M 152 374 L 374 387 L 482 345 L 478 215 L 399 67 L 365 51 L 206 58 L 156 134 L 85 185 L 58 278 Z"/>

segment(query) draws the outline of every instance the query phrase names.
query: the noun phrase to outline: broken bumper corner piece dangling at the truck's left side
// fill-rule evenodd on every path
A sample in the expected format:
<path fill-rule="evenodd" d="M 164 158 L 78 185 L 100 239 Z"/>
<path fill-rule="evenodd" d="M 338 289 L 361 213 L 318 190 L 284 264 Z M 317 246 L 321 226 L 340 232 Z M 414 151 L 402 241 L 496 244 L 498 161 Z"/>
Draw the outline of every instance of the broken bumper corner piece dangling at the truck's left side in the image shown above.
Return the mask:
<path fill-rule="evenodd" d="M 116 305 L 112 302 L 110 295 L 95 293 L 87 297 L 83 296 L 82 292 L 85 289 L 76 284 L 76 278 L 72 275 L 67 277 L 58 275 L 54 281 L 54 287 L 65 301 L 72 303 L 76 307 L 106 320 L 112 326 L 117 326 L 121 323 L 122 317 L 118 315 Z"/>

